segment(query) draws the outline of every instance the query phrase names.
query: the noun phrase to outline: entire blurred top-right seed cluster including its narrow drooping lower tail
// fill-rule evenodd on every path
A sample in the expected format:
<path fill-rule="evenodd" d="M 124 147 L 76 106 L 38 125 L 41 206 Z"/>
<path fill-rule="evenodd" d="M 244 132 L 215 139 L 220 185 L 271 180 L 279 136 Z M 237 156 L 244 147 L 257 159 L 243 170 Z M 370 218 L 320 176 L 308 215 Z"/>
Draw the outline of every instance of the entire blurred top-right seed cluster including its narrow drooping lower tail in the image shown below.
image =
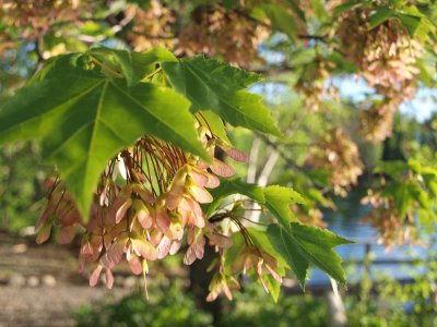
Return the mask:
<path fill-rule="evenodd" d="M 371 29 L 370 12 L 365 7 L 344 12 L 335 34 L 340 50 L 357 65 L 358 75 L 382 96 L 382 101 L 361 114 L 365 137 L 377 142 L 391 135 L 395 111 L 415 95 L 416 61 L 423 49 L 399 20 L 389 19 Z"/>

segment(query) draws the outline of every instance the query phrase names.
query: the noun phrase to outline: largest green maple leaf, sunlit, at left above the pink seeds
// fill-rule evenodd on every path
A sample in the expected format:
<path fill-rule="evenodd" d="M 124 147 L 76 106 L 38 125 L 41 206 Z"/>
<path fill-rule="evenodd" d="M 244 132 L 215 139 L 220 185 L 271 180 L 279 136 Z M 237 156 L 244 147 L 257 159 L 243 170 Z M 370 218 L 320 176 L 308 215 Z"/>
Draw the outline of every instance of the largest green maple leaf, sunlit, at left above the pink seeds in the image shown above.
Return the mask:
<path fill-rule="evenodd" d="M 190 102 L 175 90 L 140 83 L 127 87 L 81 56 L 60 57 L 0 107 L 0 145 L 40 138 L 84 219 L 101 172 L 120 149 L 150 134 L 209 159 L 198 141 Z"/>

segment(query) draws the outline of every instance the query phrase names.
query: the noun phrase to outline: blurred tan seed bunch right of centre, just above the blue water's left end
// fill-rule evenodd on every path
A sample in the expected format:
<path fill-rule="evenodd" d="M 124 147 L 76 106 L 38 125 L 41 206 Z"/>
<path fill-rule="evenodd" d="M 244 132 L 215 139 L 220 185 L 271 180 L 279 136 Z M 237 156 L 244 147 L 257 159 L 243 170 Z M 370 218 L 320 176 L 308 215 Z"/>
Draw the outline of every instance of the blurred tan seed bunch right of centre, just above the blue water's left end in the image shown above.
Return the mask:
<path fill-rule="evenodd" d="M 330 171 L 334 192 L 345 196 L 346 190 L 356 184 L 363 173 L 356 144 L 342 130 L 334 129 L 317 145 L 310 152 L 307 164 Z"/>

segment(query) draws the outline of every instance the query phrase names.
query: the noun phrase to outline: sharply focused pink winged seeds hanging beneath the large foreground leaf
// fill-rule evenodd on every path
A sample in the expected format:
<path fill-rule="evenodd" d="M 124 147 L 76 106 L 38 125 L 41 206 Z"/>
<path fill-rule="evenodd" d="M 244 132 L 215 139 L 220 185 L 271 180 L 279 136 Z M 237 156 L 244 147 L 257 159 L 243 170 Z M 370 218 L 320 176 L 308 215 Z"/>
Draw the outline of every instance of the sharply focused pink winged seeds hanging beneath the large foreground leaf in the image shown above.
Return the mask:
<path fill-rule="evenodd" d="M 57 240 L 62 244 L 83 232 L 79 270 L 83 271 L 85 265 L 92 264 L 90 284 L 95 286 L 101 272 L 105 271 L 106 284 L 111 288 L 113 268 L 122 261 L 127 261 L 133 274 L 145 277 L 149 261 L 173 255 L 186 243 L 184 263 L 190 265 L 203 257 L 209 241 L 221 257 L 208 298 L 214 300 L 222 291 L 231 298 L 228 288 L 235 286 L 234 277 L 225 275 L 223 267 L 224 251 L 233 244 L 233 229 L 224 228 L 227 221 L 227 225 L 236 226 L 246 240 L 233 272 L 253 268 L 261 281 L 262 274 L 272 274 L 280 280 L 274 272 L 277 263 L 253 245 L 238 218 L 243 216 L 236 214 L 241 209 L 241 203 L 206 220 L 201 204 L 213 201 L 208 189 L 220 185 L 218 177 L 234 174 L 229 165 L 215 158 L 215 148 L 220 147 L 237 161 L 246 161 L 247 157 L 217 138 L 201 114 L 198 119 L 199 137 L 211 162 L 204 162 L 172 143 L 143 136 L 108 164 L 96 189 L 87 222 L 81 219 L 62 181 L 48 179 L 50 192 L 47 207 L 36 225 L 39 229 L 37 242 L 46 241 L 54 226 L 60 227 Z"/>

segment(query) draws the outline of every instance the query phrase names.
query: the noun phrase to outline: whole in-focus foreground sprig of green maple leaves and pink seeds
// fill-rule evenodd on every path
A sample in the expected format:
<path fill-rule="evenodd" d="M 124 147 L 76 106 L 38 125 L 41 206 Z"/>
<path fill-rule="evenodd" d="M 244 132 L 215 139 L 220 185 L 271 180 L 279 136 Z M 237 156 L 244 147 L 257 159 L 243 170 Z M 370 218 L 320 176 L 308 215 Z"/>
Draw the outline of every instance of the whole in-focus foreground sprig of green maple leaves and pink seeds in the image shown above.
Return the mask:
<path fill-rule="evenodd" d="M 80 269 L 94 263 L 92 286 L 105 270 L 110 288 L 111 269 L 123 258 L 145 278 L 147 262 L 185 242 L 190 265 L 203 257 L 205 239 L 217 253 L 210 301 L 222 292 L 232 299 L 236 277 L 249 270 L 274 299 L 286 269 L 305 287 L 309 264 L 344 284 L 332 247 L 349 241 L 299 223 L 290 206 L 305 199 L 292 189 L 233 180 L 233 168 L 217 158 L 220 147 L 246 160 L 227 143 L 222 119 L 280 134 L 261 98 L 245 90 L 259 80 L 160 48 L 54 58 L 0 107 L 1 143 L 40 140 L 43 157 L 59 173 L 46 181 L 37 241 L 54 226 L 60 243 L 83 231 Z M 235 194 L 238 199 L 223 203 Z M 262 210 L 258 221 L 245 217 L 253 202 Z"/>

